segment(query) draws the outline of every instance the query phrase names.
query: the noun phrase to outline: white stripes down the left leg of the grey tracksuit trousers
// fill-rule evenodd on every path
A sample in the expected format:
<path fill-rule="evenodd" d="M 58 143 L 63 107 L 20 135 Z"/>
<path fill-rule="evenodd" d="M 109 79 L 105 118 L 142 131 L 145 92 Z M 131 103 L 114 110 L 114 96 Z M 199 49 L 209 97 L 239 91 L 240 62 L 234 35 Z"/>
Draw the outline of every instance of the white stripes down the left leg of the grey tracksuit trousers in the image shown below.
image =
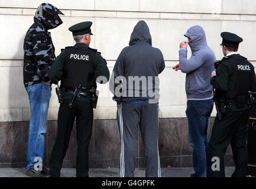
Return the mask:
<path fill-rule="evenodd" d="M 123 133 L 123 122 L 122 122 L 122 104 L 118 107 L 118 116 L 119 116 L 119 131 L 121 136 L 120 177 L 124 177 L 125 164 L 124 164 L 124 133 Z"/>

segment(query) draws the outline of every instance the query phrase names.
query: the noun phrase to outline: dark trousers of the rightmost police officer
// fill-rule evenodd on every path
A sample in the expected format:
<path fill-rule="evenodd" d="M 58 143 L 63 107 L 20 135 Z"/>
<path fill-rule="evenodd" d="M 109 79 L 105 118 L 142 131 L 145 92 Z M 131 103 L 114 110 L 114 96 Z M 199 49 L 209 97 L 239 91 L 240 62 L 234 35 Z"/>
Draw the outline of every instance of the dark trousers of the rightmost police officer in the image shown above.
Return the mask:
<path fill-rule="evenodd" d="M 249 110 L 228 112 L 222 120 L 215 118 L 209 141 L 212 162 L 212 177 L 225 177 L 224 155 L 231 144 L 235 161 L 235 171 L 231 177 L 246 177 L 247 174 L 247 136 Z M 213 164 L 215 164 L 213 166 Z"/>

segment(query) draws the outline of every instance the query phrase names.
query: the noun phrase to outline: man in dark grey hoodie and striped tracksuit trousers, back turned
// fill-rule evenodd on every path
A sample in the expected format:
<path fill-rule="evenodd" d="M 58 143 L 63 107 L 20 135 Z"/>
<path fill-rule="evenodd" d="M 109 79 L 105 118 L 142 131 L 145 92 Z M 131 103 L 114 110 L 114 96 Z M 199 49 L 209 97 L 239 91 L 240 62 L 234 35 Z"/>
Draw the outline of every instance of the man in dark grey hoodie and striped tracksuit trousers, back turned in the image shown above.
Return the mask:
<path fill-rule="evenodd" d="M 109 89 L 117 102 L 121 136 L 120 177 L 134 177 L 138 125 L 144 142 L 146 177 L 160 177 L 158 154 L 158 74 L 164 70 L 163 54 L 151 46 L 144 21 L 135 25 L 129 46 L 116 60 Z"/>

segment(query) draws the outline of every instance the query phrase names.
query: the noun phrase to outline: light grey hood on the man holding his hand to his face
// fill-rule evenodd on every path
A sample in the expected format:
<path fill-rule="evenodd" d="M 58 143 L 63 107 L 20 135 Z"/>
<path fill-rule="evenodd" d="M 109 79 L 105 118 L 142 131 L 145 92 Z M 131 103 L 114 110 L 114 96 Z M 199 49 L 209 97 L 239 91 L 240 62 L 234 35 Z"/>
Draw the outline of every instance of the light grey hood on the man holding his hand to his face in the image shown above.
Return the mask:
<path fill-rule="evenodd" d="M 200 50 L 207 46 L 205 31 L 200 25 L 194 25 L 187 30 L 185 37 L 190 37 L 191 41 L 189 42 L 189 46 L 193 51 Z"/>

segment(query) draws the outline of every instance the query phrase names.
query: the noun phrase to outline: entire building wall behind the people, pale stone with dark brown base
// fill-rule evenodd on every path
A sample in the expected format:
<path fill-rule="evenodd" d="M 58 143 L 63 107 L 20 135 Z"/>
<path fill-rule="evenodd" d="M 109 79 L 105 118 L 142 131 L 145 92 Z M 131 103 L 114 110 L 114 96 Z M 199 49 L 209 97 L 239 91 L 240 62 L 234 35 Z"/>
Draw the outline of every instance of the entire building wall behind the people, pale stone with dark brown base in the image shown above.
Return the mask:
<path fill-rule="evenodd" d="M 208 45 L 217 60 L 222 58 L 222 31 L 235 32 L 244 41 L 238 52 L 256 65 L 256 1 L 242 0 L 0 0 L 0 167 L 23 167 L 27 151 L 30 106 L 22 77 L 23 41 L 37 7 L 48 2 L 64 13 L 63 24 L 50 30 L 56 56 L 60 49 L 74 45 L 68 28 L 82 21 L 92 21 L 90 47 L 97 48 L 108 62 L 109 70 L 122 48 L 128 45 L 131 32 L 143 19 L 150 28 L 153 47 L 164 56 L 166 68 L 160 74 L 161 167 L 191 167 L 192 151 L 186 119 L 185 77 L 171 69 L 179 62 L 179 44 L 192 25 L 201 25 Z M 189 54 L 190 56 L 190 48 Z M 48 109 L 46 158 L 48 162 L 57 130 L 59 103 L 52 86 Z M 116 124 L 116 104 L 109 84 L 98 86 L 98 107 L 94 110 L 93 135 L 90 142 L 90 167 L 118 167 L 120 139 Z M 216 115 L 213 110 L 212 117 Z M 210 118 L 210 129 L 214 118 Z M 76 165 L 75 127 L 63 167 Z M 138 135 L 138 167 L 143 164 L 143 145 Z M 231 148 L 226 164 L 233 165 Z"/>

